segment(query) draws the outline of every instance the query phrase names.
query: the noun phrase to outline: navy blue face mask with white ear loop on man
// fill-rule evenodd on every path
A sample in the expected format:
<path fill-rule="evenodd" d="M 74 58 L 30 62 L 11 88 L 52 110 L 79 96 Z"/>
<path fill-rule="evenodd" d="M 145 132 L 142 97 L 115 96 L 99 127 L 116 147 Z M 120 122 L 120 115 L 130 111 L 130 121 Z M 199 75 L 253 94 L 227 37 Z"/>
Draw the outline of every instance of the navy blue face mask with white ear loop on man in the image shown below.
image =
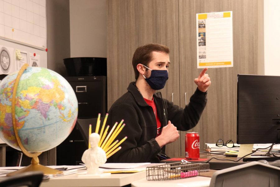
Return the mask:
<path fill-rule="evenodd" d="M 144 67 L 148 68 L 147 66 L 143 65 Z M 151 70 L 150 68 L 148 68 Z M 168 79 L 168 71 L 167 70 L 151 70 L 151 76 L 146 78 L 144 75 L 143 77 L 147 81 L 147 83 L 151 86 L 154 90 L 163 89 L 166 81 Z"/>

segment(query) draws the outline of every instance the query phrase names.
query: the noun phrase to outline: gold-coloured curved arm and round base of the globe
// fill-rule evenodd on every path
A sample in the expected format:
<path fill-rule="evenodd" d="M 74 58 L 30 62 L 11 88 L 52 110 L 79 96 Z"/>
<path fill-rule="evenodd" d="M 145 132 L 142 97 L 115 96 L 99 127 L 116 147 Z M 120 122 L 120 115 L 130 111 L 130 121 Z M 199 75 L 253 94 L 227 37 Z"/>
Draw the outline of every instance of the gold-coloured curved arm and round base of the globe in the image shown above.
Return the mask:
<path fill-rule="evenodd" d="M 27 171 L 42 171 L 44 173 L 44 175 L 55 175 L 55 174 L 62 174 L 62 171 L 59 170 L 55 170 L 49 167 L 46 167 L 44 165 L 39 164 L 39 158 L 38 156 L 42 153 L 42 152 L 37 152 L 37 153 L 30 153 L 28 152 L 24 146 L 21 143 L 21 139 L 18 135 L 18 130 L 17 130 L 17 126 L 16 126 L 16 90 L 18 87 L 18 83 L 20 81 L 21 75 L 23 74 L 23 72 L 26 70 L 26 68 L 28 67 L 28 64 L 24 64 L 21 67 L 21 70 L 19 71 L 19 73 L 17 74 L 16 77 L 16 81 L 15 81 L 15 85 L 14 85 L 14 89 L 13 89 L 13 96 L 12 96 L 12 121 L 13 121 L 13 129 L 15 132 L 15 136 L 16 136 L 16 141 L 19 145 L 19 147 L 21 148 L 21 151 L 28 157 L 31 157 L 31 164 L 20 169 L 20 170 L 16 170 L 12 173 L 7 174 L 7 176 L 12 176 L 12 175 L 18 175 L 20 173 L 24 173 Z"/>

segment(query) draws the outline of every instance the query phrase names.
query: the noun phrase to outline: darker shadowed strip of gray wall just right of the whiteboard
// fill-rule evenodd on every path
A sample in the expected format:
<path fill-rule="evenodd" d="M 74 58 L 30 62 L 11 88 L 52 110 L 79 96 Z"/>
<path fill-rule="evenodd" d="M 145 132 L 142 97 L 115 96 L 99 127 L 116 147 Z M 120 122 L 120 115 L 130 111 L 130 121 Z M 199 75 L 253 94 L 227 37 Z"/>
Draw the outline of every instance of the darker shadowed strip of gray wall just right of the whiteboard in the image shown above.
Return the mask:
<path fill-rule="evenodd" d="M 69 0 L 48 0 L 46 3 L 48 69 L 64 76 L 63 59 L 70 57 Z"/>

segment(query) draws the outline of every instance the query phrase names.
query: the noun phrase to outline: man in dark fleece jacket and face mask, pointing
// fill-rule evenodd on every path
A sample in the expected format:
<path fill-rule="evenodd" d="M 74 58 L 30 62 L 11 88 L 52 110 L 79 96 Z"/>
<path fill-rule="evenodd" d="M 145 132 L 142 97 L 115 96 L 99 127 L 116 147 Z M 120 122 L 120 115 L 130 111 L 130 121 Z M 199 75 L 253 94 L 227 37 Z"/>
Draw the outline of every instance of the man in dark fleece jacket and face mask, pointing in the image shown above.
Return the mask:
<path fill-rule="evenodd" d="M 111 125 L 124 119 L 126 126 L 117 139 L 128 139 L 107 162 L 159 162 L 165 158 L 165 145 L 179 138 L 178 130 L 187 131 L 198 123 L 211 81 L 205 68 L 194 79 L 198 88 L 189 104 L 180 108 L 156 93 L 168 79 L 168 47 L 140 46 L 134 52 L 132 64 L 136 82 L 130 83 L 128 92 L 115 101 L 108 117 Z"/>

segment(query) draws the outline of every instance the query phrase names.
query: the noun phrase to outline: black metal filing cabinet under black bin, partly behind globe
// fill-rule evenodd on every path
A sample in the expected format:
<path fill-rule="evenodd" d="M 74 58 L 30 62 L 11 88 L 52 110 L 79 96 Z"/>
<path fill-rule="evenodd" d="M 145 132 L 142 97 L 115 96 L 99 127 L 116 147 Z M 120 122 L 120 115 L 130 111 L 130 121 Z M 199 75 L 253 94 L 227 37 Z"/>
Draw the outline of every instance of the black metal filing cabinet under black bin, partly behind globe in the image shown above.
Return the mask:
<path fill-rule="evenodd" d="M 78 118 L 104 117 L 107 113 L 106 76 L 64 77 L 72 86 L 78 100 Z M 78 165 L 88 148 L 81 130 L 75 125 L 71 134 L 57 146 L 57 165 Z"/>

